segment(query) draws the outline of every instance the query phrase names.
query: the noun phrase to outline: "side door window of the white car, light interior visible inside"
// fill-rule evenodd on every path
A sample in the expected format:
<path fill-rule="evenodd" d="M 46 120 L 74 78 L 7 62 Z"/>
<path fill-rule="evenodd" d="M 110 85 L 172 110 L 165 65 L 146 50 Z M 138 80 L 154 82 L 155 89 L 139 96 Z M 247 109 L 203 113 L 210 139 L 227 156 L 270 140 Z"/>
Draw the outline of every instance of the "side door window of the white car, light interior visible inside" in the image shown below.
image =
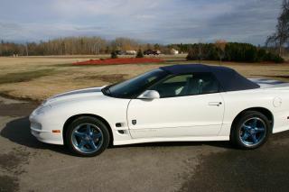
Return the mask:
<path fill-rule="evenodd" d="M 168 78 L 151 90 L 159 92 L 160 96 L 193 96 L 219 92 L 219 82 L 210 73 L 185 74 Z"/>

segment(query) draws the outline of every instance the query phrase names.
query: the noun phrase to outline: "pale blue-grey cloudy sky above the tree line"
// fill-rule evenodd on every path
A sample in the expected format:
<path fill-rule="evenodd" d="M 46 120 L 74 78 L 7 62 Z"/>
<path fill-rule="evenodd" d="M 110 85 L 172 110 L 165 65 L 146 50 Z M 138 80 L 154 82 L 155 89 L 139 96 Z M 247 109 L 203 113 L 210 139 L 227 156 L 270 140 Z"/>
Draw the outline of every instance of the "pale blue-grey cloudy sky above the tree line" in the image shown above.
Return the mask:
<path fill-rule="evenodd" d="M 152 43 L 263 45 L 282 0 L 0 0 L 0 40 L 127 37 Z"/>

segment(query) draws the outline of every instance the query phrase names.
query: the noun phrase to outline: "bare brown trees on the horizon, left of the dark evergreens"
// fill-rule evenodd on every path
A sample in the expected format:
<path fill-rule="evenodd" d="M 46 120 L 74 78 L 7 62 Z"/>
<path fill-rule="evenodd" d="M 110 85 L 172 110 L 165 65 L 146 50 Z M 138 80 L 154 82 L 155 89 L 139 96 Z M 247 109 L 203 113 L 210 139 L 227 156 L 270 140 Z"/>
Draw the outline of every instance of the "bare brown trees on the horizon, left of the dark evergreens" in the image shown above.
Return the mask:
<path fill-rule="evenodd" d="M 37 55 L 95 55 L 110 54 L 114 50 L 161 50 L 169 53 L 167 46 L 141 43 L 129 38 L 107 41 L 100 37 L 66 37 L 50 41 L 15 43 L 0 42 L 0 56 L 37 56 Z"/>

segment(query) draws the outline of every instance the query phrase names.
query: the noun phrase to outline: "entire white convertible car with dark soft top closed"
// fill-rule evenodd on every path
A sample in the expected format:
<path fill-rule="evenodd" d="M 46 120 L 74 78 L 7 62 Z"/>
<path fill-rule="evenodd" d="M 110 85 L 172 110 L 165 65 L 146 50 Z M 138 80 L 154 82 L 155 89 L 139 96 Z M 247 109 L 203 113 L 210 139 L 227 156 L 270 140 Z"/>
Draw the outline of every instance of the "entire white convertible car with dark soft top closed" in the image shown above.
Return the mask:
<path fill-rule="evenodd" d="M 41 142 L 95 156 L 109 143 L 231 141 L 255 149 L 289 129 L 289 84 L 174 65 L 107 87 L 52 96 L 30 115 Z"/>

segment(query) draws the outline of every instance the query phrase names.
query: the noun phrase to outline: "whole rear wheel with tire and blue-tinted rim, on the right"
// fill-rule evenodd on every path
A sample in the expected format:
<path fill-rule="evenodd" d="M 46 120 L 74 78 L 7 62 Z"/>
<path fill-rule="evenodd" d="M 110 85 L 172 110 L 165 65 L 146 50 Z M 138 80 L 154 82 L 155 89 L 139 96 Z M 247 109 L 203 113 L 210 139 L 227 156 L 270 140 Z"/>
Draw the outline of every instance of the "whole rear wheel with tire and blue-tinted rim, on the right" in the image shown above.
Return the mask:
<path fill-rule="evenodd" d="M 271 125 L 264 114 L 247 111 L 233 124 L 230 141 L 241 149 L 256 149 L 270 133 Z"/>

